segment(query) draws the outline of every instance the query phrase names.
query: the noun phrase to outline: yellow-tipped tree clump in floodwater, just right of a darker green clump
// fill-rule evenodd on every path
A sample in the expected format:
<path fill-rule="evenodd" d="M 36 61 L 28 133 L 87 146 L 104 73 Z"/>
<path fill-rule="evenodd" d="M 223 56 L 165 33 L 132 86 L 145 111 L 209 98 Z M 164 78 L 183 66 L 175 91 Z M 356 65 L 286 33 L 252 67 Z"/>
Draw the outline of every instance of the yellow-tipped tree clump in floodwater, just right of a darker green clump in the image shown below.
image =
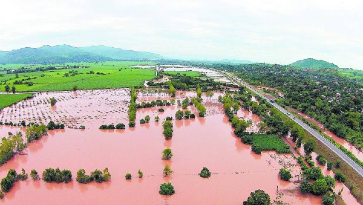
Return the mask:
<path fill-rule="evenodd" d="M 95 171 L 91 172 L 90 175 L 86 175 L 86 171 L 84 169 L 79 169 L 77 171 L 76 180 L 78 183 L 87 184 L 91 181 L 97 181 L 101 183 L 102 181 L 107 181 L 111 179 L 111 174 L 109 173 L 109 169 L 106 167 L 102 171 L 96 169 Z"/>

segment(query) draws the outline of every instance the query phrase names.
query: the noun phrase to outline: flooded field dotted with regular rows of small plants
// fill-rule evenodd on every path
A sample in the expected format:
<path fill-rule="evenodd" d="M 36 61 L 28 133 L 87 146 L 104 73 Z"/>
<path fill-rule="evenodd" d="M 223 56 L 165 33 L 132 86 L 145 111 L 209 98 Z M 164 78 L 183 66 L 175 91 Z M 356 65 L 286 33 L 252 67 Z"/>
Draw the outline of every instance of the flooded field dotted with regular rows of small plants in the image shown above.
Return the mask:
<path fill-rule="evenodd" d="M 130 89 L 105 89 L 37 93 L 34 98 L 20 101 L 0 112 L 0 121 L 48 123 L 53 120 L 66 127 L 127 122 Z M 49 98 L 56 105 L 51 106 Z M 97 127 L 98 127 L 97 126 Z"/>

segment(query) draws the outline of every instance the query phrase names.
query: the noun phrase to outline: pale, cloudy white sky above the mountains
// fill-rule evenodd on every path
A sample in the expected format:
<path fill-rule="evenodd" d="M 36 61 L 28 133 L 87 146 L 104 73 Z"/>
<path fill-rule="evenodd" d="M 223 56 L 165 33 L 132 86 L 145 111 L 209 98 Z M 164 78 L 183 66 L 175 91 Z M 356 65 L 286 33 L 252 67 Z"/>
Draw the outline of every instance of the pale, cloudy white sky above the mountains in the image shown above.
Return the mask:
<path fill-rule="evenodd" d="M 363 1 L 12 0 L 0 50 L 105 45 L 179 59 L 289 64 L 315 58 L 363 69 Z"/>

